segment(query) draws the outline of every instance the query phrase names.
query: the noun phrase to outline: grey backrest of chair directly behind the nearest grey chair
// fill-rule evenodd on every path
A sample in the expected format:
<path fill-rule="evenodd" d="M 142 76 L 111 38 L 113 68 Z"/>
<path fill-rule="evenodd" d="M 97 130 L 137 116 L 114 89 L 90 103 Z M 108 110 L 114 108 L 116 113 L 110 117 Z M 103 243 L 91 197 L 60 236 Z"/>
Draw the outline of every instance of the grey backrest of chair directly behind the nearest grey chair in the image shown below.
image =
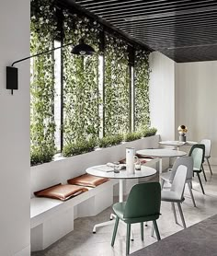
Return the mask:
<path fill-rule="evenodd" d="M 193 157 L 177 157 L 177 160 L 175 161 L 173 168 L 171 170 L 170 174 L 170 180 L 174 180 L 175 174 L 177 172 L 178 166 L 183 165 L 186 166 L 187 171 L 187 180 L 192 179 L 193 177 Z"/>

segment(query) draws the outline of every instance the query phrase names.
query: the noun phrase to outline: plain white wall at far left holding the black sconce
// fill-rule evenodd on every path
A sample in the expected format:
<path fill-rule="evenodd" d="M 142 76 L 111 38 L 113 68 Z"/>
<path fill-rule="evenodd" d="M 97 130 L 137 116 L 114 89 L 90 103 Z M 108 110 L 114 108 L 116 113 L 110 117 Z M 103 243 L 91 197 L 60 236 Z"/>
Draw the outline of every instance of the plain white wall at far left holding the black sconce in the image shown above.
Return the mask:
<path fill-rule="evenodd" d="M 19 90 L 6 90 L 6 65 L 29 56 L 29 0 L 0 2 L 0 255 L 29 255 L 29 62 Z"/>

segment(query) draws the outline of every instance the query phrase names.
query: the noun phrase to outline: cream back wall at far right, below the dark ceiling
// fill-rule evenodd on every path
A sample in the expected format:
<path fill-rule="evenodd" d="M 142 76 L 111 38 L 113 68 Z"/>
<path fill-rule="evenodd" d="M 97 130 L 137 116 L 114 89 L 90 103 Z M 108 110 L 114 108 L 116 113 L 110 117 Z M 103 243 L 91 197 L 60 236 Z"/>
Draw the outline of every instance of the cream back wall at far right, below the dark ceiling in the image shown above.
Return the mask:
<path fill-rule="evenodd" d="M 217 164 L 216 71 L 216 61 L 176 64 L 176 127 L 188 126 L 188 140 L 211 139 L 212 164 Z"/>

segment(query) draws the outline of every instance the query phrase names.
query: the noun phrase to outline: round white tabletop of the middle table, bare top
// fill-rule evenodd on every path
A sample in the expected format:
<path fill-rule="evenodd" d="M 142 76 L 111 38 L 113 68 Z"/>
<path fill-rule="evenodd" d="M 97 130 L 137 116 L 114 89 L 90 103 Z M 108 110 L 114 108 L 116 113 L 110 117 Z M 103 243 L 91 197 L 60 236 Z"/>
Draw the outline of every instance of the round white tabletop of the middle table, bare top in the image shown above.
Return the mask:
<path fill-rule="evenodd" d="M 137 154 L 149 157 L 183 157 L 187 153 L 184 151 L 177 151 L 173 149 L 156 148 L 156 149 L 142 149 L 137 150 Z"/>

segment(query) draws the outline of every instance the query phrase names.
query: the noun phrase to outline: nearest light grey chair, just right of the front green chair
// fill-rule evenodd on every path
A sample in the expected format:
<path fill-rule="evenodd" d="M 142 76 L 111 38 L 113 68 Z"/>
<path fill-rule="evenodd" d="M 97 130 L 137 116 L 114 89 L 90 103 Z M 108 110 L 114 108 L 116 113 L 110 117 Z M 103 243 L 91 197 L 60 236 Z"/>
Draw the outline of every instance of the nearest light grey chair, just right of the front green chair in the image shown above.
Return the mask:
<path fill-rule="evenodd" d="M 175 203 L 177 203 L 178 211 L 182 220 L 183 227 L 186 228 L 185 218 L 181 209 L 181 203 L 185 200 L 183 197 L 186 178 L 187 178 L 187 167 L 180 165 L 177 168 L 174 180 L 170 190 L 163 190 L 161 192 L 161 200 L 166 202 L 171 202 L 172 209 L 177 223 L 177 214 L 175 209 Z"/>

